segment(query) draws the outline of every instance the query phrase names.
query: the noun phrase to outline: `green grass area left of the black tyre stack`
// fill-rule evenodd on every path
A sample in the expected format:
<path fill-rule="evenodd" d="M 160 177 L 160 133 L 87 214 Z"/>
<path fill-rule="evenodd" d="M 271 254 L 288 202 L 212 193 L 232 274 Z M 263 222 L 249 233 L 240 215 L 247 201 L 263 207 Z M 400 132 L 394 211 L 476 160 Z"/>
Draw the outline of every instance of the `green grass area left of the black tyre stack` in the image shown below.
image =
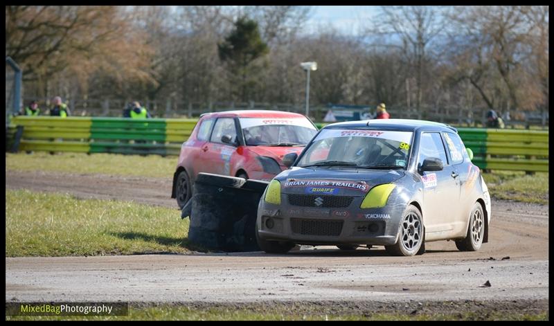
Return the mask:
<path fill-rule="evenodd" d="M 187 253 L 177 209 L 6 190 L 6 257 Z"/>

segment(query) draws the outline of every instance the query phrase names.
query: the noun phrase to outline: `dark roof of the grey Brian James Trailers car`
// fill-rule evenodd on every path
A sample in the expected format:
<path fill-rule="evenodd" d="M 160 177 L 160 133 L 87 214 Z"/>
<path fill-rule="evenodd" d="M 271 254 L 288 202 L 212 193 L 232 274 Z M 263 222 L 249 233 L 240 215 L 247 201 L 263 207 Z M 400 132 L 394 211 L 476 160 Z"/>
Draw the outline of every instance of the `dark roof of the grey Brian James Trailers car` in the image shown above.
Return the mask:
<path fill-rule="evenodd" d="M 325 129 L 387 129 L 398 130 L 403 132 L 415 132 L 415 130 L 432 130 L 432 131 L 454 131 L 456 128 L 446 125 L 445 123 L 436 123 L 427 120 L 410 120 L 410 119 L 374 119 L 374 120 L 359 120 L 347 121 L 344 123 L 332 123 L 326 125 Z"/>

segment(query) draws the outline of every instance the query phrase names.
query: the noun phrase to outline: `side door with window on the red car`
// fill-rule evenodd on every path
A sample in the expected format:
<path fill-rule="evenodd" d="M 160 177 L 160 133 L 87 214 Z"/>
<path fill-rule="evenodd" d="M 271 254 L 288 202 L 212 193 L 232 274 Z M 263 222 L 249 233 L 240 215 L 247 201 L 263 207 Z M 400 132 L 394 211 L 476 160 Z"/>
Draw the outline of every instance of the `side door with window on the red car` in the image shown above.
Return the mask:
<path fill-rule="evenodd" d="M 231 156 L 237 147 L 223 143 L 222 136 L 231 136 L 231 143 L 237 142 L 237 128 L 234 118 L 217 118 L 213 126 L 210 141 L 206 143 L 202 154 L 205 172 L 214 174 L 231 174 Z"/>

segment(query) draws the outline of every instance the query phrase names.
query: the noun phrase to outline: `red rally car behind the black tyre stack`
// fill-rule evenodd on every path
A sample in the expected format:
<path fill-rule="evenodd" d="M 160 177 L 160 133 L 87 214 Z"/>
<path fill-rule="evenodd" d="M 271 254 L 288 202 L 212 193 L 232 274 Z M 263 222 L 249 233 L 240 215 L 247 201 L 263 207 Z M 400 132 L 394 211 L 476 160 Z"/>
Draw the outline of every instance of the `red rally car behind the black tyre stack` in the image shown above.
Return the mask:
<path fill-rule="evenodd" d="M 181 145 L 171 198 L 183 207 L 199 172 L 270 181 L 286 170 L 283 156 L 300 154 L 317 128 L 301 114 L 224 111 L 202 114 Z"/>

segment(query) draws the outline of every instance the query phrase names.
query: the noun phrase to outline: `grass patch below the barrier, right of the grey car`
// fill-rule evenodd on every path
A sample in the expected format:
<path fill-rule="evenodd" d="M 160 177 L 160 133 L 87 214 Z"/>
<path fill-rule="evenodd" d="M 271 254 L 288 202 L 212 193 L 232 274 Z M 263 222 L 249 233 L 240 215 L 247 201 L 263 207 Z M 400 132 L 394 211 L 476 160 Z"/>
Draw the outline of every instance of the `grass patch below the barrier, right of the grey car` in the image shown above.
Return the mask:
<path fill-rule="evenodd" d="M 494 198 L 548 204 L 548 172 L 526 175 L 525 172 L 494 171 L 484 173 L 483 178 Z"/>

